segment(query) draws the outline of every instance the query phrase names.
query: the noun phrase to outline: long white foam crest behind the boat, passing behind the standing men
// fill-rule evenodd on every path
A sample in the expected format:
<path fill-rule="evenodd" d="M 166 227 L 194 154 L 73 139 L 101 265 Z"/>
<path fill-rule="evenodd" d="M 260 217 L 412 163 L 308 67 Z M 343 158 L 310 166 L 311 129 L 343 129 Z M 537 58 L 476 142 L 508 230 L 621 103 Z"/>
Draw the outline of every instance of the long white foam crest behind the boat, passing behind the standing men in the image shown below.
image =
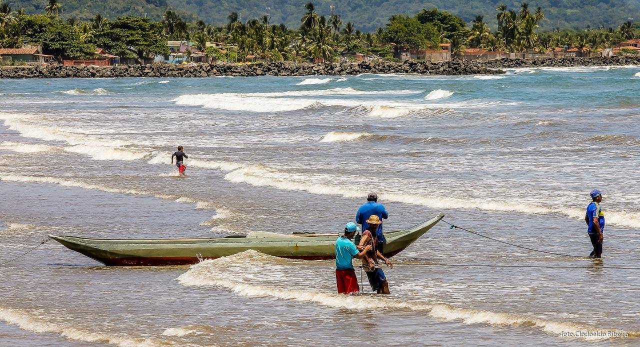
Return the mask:
<path fill-rule="evenodd" d="M 312 175 L 291 175 L 266 165 L 251 165 L 225 175 L 231 182 L 247 183 L 253 186 L 269 186 L 280 190 L 307 191 L 319 195 L 337 195 L 346 198 L 365 197 L 367 191 L 335 184 L 319 184 Z M 438 195 L 436 195 L 438 196 Z M 545 207 L 519 202 L 497 202 L 467 198 L 449 198 L 442 195 L 437 198 L 426 195 L 380 192 L 387 201 L 426 206 L 433 209 L 479 209 L 484 211 L 521 212 L 530 214 L 564 214 L 570 218 L 584 218 L 584 209 L 571 207 Z M 607 223 L 623 227 L 640 228 L 640 216 L 625 211 L 607 211 Z"/>

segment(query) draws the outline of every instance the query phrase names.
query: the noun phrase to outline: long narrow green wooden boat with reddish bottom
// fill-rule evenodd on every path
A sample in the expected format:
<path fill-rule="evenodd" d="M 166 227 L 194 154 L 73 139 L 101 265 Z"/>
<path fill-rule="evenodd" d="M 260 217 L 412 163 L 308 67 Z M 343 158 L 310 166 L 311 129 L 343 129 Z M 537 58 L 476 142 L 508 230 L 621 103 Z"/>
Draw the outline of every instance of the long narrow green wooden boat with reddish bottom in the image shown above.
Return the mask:
<path fill-rule="evenodd" d="M 436 225 L 444 213 L 406 230 L 385 232 L 386 257 L 393 257 Z M 253 235 L 252 235 L 253 234 Z M 292 259 L 335 259 L 333 235 L 250 233 L 249 236 L 199 239 L 93 239 L 49 235 L 70 250 L 108 266 L 159 266 L 195 264 L 246 250 Z"/>

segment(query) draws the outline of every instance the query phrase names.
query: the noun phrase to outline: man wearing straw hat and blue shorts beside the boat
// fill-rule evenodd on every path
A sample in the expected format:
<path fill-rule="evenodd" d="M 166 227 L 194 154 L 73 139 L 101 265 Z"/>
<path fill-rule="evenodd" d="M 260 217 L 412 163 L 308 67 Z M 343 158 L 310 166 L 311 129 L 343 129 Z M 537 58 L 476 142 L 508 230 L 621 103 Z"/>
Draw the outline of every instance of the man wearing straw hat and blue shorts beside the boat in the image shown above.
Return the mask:
<path fill-rule="evenodd" d="M 373 291 L 378 294 L 391 294 L 389 291 L 387 277 L 380 268 L 378 259 L 384 261 L 390 268 L 393 268 L 394 265 L 389 261 L 389 259 L 385 258 L 378 248 L 376 248 L 376 245 L 378 245 L 378 239 L 376 238 L 376 235 L 371 232 L 371 230 L 378 230 L 382 221 L 378 216 L 372 214 L 365 222 L 367 222 L 369 228 L 362 232 L 358 248 L 364 250 L 366 247 L 371 246 L 372 249 L 369 252 L 365 252 L 364 257 L 362 257 L 362 268 L 364 268 L 364 271 L 367 273 L 367 278 L 369 278 L 369 284 L 371 284 L 371 289 Z"/>

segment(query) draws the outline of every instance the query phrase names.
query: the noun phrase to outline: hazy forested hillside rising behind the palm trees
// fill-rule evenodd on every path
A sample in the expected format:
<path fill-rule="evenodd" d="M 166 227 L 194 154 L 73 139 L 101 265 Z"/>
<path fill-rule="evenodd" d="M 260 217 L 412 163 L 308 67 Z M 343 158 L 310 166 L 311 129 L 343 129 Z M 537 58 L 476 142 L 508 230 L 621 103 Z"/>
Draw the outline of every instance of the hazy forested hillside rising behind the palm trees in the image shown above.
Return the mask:
<path fill-rule="evenodd" d="M 9 0 L 15 10 L 24 8 L 26 13 L 44 12 L 45 0 Z M 202 19 L 209 24 L 227 22 L 230 12 L 238 12 L 243 21 L 265 15 L 269 8 L 272 23 L 286 23 L 299 26 L 308 0 L 116 0 L 87 1 L 60 0 L 63 5 L 63 18 L 76 17 L 90 19 L 96 13 L 115 18 L 120 15 L 147 15 L 160 19 L 167 8 L 172 8 L 188 20 Z M 353 22 L 356 29 L 374 31 L 383 26 L 390 15 L 407 13 L 413 15 L 422 8 L 439 8 L 471 22 L 476 15 L 483 15 L 490 26 L 495 28 L 495 8 L 504 3 L 509 8 L 518 8 L 519 1 L 500 0 L 317 0 L 313 1 L 316 11 L 321 15 L 330 14 L 330 5 L 343 22 Z M 540 0 L 529 2 L 529 8 L 542 6 L 547 19 L 541 28 L 582 29 L 620 26 L 634 18 L 640 20 L 640 1 L 636 0 Z"/>

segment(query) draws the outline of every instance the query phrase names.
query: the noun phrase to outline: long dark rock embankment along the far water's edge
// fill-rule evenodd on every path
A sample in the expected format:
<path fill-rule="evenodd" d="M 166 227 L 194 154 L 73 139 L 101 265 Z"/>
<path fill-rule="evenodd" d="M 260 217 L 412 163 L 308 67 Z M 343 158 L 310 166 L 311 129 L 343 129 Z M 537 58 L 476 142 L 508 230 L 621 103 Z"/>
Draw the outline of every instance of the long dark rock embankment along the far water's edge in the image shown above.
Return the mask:
<path fill-rule="evenodd" d="M 273 61 L 242 65 L 124 65 L 117 67 L 47 65 L 15 66 L 0 69 L 1 79 L 26 78 L 104 78 L 104 77 L 215 77 L 215 76 L 356 76 L 359 74 L 420 74 L 433 76 L 504 74 L 502 69 L 530 67 L 589 67 L 640 65 L 640 56 L 593 58 L 545 58 L 478 61 L 406 60 L 361 61 L 360 63 L 289 63 Z"/>

